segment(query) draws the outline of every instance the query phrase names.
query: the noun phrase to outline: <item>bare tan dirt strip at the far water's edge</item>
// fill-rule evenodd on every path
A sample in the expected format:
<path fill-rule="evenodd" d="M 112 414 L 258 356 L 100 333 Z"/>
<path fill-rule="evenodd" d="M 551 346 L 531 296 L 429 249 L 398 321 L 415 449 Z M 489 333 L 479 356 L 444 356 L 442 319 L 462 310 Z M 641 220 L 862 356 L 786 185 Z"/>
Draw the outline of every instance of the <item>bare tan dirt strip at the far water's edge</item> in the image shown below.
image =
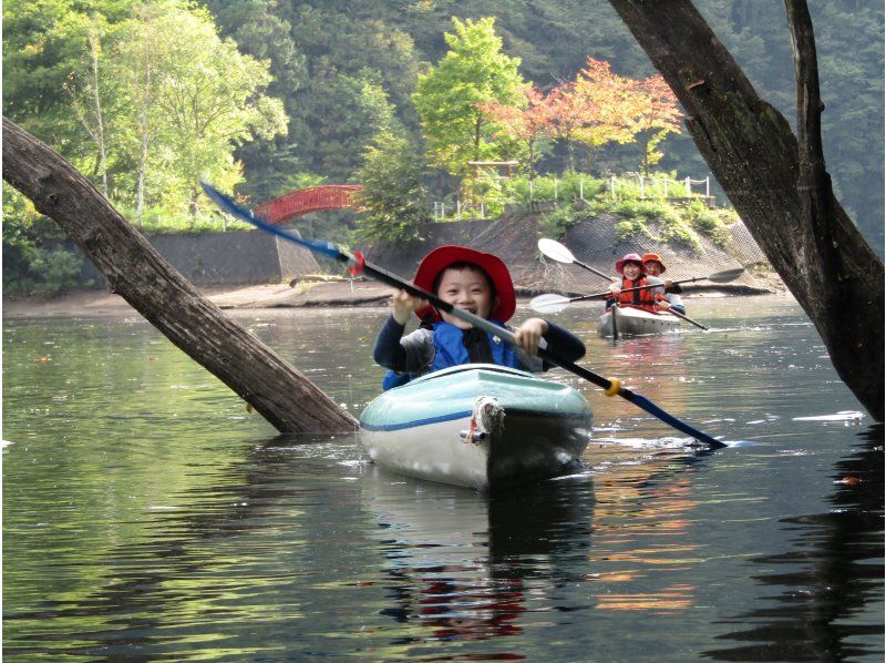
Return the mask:
<path fill-rule="evenodd" d="M 767 284 L 773 293 L 783 293 L 784 285 L 774 277 Z M 373 280 L 299 282 L 253 286 L 209 286 L 200 293 L 226 310 L 261 308 L 306 308 L 338 306 L 387 306 L 392 288 Z M 518 292 L 519 299 L 533 294 Z M 742 294 L 727 293 L 729 296 Z M 703 295 L 700 295 L 703 296 Z M 135 309 L 120 295 L 106 290 L 76 290 L 58 296 L 3 296 L 2 315 L 7 318 L 44 318 L 81 316 L 127 316 Z"/>

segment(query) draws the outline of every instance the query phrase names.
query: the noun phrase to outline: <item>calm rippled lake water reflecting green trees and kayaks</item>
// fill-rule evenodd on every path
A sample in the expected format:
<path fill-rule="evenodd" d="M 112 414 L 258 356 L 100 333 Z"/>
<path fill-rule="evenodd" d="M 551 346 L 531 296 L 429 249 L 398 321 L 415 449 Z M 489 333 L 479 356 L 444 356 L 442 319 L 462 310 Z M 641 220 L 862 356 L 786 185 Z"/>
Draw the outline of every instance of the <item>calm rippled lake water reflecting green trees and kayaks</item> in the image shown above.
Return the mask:
<path fill-rule="evenodd" d="M 882 661 L 883 428 L 790 299 L 597 338 L 579 475 L 508 494 L 405 479 L 357 436 L 280 437 L 135 314 L 3 320 L 10 661 Z M 354 415 L 382 308 L 238 313 Z M 516 320 L 527 316 L 525 306 Z"/>

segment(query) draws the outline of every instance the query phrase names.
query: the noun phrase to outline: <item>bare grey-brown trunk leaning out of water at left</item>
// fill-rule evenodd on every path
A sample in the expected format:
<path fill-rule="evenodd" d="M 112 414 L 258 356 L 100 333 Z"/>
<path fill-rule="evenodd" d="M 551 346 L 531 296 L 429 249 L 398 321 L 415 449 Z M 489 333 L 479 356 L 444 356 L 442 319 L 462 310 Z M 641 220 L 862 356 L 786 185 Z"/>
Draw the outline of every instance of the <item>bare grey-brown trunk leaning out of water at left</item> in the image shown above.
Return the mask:
<path fill-rule="evenodd" d="M 279 431 L 357 428 L 353 417 L 200 295 L 68 161 L 6 118 L 3 180 L 64 228 L 112 293 Z"/>

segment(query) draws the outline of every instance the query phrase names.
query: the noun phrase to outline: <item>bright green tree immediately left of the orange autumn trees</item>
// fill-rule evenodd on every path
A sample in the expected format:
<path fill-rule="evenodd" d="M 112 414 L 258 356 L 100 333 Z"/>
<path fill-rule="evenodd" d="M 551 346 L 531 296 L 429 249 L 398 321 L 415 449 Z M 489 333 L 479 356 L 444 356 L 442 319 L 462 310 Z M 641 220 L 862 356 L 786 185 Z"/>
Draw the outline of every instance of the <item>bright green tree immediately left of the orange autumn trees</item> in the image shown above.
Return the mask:
<path fill-rule="evenodd" d="M 495 19 L 452 19 L 455 33 L 445 34 L 449 52 L 419 75 L 412 99 L 422 122 L 431 162 L 452 175 L 463 176 L 468 161 L 499 159 L 506 154 L 496 142 L 494 123 L 483 109 L 497 101 L 518 105 L 523 79 L 518 58 L 502 52 Z"/>

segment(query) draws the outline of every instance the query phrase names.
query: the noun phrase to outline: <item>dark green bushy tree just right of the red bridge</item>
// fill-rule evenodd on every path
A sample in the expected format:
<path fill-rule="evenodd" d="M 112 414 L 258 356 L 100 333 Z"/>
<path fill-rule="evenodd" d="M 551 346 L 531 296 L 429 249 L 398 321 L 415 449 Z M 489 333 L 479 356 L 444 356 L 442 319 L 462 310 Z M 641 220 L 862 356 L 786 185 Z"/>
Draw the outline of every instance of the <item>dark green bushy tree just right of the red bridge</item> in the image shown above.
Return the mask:
<path fill-rule="evenodd" d="M 367 207 L 356 238 L 363 243 L 408 242 L 427 221 L 427 193 L 422 185 L 425 164 L 415 145 L 402 134 L 379 133 L 363 153 L 361 196 Z"/>

